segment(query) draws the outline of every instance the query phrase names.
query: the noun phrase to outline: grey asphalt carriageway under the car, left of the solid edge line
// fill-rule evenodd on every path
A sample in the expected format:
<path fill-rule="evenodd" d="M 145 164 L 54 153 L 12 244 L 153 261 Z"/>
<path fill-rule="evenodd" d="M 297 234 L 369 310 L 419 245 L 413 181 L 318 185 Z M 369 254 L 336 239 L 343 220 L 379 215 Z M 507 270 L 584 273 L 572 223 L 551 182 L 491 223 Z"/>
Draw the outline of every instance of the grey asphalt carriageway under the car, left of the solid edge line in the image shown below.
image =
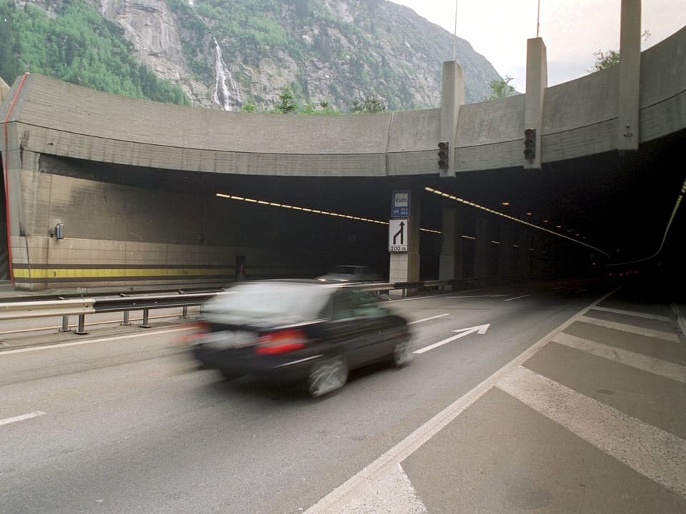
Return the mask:
<path fill-rule="evenodd" d="M 319 400 L 198 370 L 178 318 L 156 319 L 149 329 L 92 326 L 88 336 L 50 330 L 23 333 L 21 342 L 6 336 L 0 346 L 0 513 L 314 509 L 607 292 L 547 283 L 390 302 L 412 321 L 412 364 L 356 371 L 344 388 Z M 460 332 L 467 328 L 473 330 Z M 511 416 L 497 415 L 506 403 L 498 394 L 490 399 L 496 415 L 483 430 L 494 424 L 514 429 Z M 479 419 L 472 420 L 477 427 Z M 417 454 L 410 463 L 414 482 L 426 482 L 435 473 L 432 462 L 440 461 L 442 450 L 427 448 L 434 450 L 428 461 Z M 467 480 L 486 454 L 464 458 L 462 478 L 452 478 Z M 532 461 L 535 455 L 532 450 Z M 548 466 L 548 475 L 566 470 Z M 426 483 L 422 491 L 424 503 L 439 505 Z M 489 495 L 487 489 L 480 494 Z M 424 509 L 410 499 L 389 510 L 352 505 L 321 511 Z"/>

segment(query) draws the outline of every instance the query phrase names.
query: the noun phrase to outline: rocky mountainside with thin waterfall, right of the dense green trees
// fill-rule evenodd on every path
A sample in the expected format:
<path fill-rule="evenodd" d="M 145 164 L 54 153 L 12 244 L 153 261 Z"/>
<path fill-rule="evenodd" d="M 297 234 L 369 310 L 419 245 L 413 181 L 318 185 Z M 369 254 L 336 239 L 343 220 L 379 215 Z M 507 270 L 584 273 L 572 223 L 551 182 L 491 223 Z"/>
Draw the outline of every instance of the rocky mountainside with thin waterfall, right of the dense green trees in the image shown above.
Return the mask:
<path fill-rule="evenodd" d="M 52 15 L 66 1 L 21 0 Z M 197 106 L 261 109 L 289 86 L 299 104 L 347 111 L 377 96 L 389 109 L 439 105 L 443 61 L 464 69 L 467 102 L 500 79 L 467 41 L 385 0 L 83 0 L 121 27 L 136 59 Z"/>

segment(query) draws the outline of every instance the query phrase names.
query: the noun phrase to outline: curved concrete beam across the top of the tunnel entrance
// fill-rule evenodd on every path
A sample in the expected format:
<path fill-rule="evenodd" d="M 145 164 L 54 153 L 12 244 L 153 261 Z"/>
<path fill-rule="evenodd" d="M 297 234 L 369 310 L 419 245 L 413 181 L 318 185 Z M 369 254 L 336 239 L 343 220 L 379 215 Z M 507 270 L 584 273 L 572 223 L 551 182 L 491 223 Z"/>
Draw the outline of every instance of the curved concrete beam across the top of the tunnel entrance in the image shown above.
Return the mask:
<path fill-rule="evenodd" d="M 686 28 L 644 51 L 640 141 L 686 128 Z M 617 149 L 617 66 L 545 89 L 543 163 Z M 18 81 L 17 81 L 18 82 Z M 257 176 L 434 175 L 441 111 L 292 116 L 159 104 L 31 75 L 0 108 L 8 148 Z M 522 166 L 525 95 L 460 106 L 459 172 Z"/>

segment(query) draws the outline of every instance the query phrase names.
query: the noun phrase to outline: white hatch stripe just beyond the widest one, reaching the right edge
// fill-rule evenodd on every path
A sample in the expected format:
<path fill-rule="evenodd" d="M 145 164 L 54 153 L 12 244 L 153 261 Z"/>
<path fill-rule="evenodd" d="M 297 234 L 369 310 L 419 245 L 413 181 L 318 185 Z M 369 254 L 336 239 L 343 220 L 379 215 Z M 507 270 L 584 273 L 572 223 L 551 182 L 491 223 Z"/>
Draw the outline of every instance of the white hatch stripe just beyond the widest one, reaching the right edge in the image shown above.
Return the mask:
<path fill-rule="evenodd" d="M 610 361 L 615 361 L 632 368 L 637 368 L 642 371 L 647 371 L 654 375 L 670 378 L 674 381 L 686 383 L 686 366 L 663 361 L 655 357 L 643 355 L 642 353 L 632 352 L 623 348 L 596 343 L 589 339 L 580 338 L 577 336 L 570 336 L 566 333 L 560 333 L 553 338 L 552 341 L 560 343 L 570 348 L 592 353 L 597 357 L 602 357 Z"/>

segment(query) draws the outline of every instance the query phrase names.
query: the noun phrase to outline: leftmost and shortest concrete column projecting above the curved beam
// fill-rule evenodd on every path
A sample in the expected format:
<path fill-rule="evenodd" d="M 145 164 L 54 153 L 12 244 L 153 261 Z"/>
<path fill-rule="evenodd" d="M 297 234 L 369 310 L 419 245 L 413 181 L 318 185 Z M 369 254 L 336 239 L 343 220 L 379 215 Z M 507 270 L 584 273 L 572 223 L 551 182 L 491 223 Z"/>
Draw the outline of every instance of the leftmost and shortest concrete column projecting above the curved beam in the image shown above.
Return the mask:
<path fill-rule="evenodd" d="M 448 169 L 441 170 L 441 176 L 454 177 L 457 172 L 455 156 L 455 137 L 459 106 L 464 104 L 464 76 L 457 61 L 443 63 L 443 81 L 441 90 L 441 141 L 448 141 L 450 156 Z M 438 141 L 437 141 L 438 143 Z"/>

